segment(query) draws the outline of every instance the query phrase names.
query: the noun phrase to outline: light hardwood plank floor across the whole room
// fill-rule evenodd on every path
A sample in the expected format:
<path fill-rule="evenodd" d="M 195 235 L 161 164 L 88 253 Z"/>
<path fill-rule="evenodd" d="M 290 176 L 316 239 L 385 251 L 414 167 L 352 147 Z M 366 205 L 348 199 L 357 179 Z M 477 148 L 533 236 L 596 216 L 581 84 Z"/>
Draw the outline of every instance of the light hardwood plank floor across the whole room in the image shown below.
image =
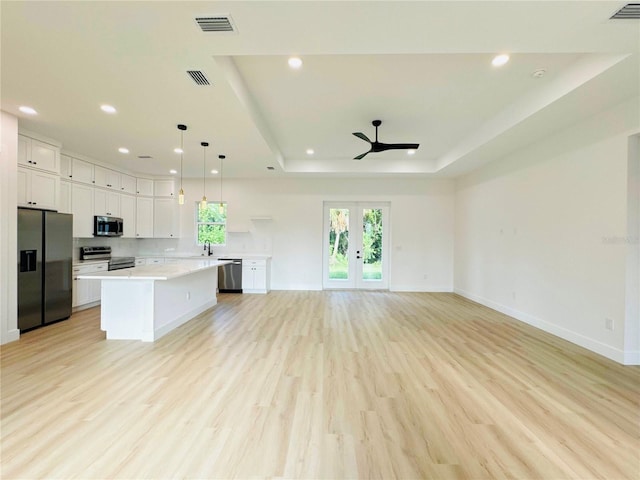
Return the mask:
<path fill-rule="evenodd" d="M 640 368 L 453 294 L 271 292 L 0 349 L 2 478 L 640 478 Z"/>

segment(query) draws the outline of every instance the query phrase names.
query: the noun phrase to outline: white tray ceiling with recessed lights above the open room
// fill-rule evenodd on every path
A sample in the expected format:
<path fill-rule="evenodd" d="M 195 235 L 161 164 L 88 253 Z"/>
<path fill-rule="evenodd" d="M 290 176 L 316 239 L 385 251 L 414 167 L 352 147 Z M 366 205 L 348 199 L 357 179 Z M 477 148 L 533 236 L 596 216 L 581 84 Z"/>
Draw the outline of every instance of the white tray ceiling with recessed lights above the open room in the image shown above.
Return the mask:
<path fill-rule="evenodd" d="M 202 175 L 201 141 L 226 176 L 455 176 L 639 95 L 640 21 L 609 19 L 625 3 L 3 0 L 1 107 L 136 173 L 179 169 L 184 123 L 185 177 Z M 194 20 L 219 14 L 236 33 Z M 510 62 L 493 67 L 497 53 Z M 368 145 L 352 132 L 374 138 L 374 119 L 416 154 L 353 160 Z"/>

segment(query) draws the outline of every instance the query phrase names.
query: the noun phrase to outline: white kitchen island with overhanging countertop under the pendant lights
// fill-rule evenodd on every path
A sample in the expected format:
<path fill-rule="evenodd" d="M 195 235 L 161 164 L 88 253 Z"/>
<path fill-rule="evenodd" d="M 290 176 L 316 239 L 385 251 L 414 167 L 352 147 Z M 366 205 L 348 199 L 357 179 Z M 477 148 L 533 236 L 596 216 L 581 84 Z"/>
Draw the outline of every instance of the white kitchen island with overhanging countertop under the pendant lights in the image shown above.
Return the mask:
<path fill-rule="evenodd" d="M 101 280 L 100 326 L 109 340 L 153 342 L 217 303 L 218 267 L 224 260 L 78 275 Z"/>

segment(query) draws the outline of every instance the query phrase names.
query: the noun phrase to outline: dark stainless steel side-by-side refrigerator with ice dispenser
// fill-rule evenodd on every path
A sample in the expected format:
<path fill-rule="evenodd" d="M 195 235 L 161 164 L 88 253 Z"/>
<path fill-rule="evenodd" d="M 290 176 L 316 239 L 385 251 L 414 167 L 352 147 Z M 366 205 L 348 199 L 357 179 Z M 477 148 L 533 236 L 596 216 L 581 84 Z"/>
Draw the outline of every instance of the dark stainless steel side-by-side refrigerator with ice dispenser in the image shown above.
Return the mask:
<path fill-rule="evenodd" d="M 71 316 L 73 216 L 18 209 L 18 328 Z"/>

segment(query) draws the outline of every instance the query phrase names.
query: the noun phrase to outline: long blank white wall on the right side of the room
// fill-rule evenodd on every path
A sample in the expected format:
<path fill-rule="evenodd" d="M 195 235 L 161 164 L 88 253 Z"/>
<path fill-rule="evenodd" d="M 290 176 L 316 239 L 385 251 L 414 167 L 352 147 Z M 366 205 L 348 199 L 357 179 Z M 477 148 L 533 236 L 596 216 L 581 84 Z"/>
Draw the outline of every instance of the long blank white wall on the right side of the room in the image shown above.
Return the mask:
<path fill-rule="evenodd" d="M 638 118 L 635 99 L 460 178 L 455 291 L 637 363 L 625 350 L 627 244 L 616 239 L 627 235 Z"/>

